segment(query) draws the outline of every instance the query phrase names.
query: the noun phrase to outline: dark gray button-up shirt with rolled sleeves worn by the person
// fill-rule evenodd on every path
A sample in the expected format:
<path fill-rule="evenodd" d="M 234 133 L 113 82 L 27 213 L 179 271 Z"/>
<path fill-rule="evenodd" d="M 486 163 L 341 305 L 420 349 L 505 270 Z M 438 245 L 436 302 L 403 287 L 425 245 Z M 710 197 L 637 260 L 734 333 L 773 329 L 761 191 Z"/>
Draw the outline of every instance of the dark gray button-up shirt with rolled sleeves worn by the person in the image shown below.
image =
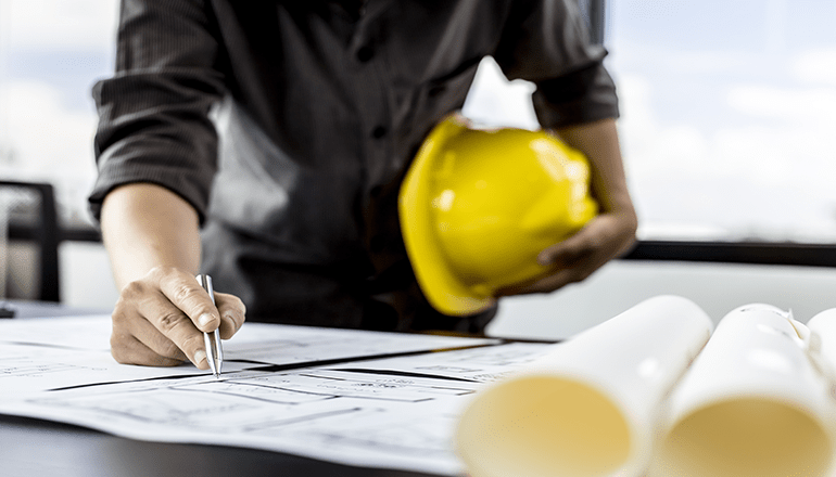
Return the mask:
<path fill-rule="evenodd" d="M 536 83 L 544 127 L 618 115 L 606 51 L 577 9 L 124 0 L 116 74 L 93 90 L 92 211 L 119 184 L 161 184 L 198 210 L 204 270 L 244 299 L 248 318 L 364 326 L 368 296 L 415 288 L 400 181 L 484 56 Z M 415 308 L 383 301 L 402 321 Z"/>

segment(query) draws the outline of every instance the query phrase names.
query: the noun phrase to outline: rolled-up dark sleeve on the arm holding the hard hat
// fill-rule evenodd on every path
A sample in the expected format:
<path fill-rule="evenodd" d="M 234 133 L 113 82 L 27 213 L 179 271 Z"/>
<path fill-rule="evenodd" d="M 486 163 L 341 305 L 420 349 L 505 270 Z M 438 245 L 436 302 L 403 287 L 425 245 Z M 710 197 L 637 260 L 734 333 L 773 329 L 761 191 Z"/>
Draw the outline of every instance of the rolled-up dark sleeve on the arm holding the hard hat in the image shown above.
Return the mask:
<path fill-rule="evenodd" d="M 590 41 L 573 0 L 515 2 L 494 57 L 509 79 L 536 85 L 534 111 L 544 128 L 619 115 L 607 50 Z"/>

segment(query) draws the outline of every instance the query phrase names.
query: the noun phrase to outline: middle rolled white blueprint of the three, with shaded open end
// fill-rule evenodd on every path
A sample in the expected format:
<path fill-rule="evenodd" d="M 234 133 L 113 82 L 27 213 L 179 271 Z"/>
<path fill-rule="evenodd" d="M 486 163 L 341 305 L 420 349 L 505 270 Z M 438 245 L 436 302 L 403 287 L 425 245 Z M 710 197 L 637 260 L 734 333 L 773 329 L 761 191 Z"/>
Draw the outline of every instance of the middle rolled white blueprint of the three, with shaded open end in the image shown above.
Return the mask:
<path fill-rule="evenodd" d="M 671 396 L 648 475 L 828 475 L 833 401 L 811 336 L 769 305 L 726 314 Z"/>

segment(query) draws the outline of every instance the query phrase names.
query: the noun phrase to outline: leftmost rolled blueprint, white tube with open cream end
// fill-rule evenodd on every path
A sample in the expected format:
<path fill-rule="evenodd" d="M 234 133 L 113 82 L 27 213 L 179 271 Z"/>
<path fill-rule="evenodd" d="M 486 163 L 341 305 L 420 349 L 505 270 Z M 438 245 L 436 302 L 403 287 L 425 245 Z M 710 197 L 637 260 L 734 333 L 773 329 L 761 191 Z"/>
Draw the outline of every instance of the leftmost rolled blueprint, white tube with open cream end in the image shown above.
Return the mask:
<path fill-rule="evenodd" d="M 478 392 L 457 452 L 472 477 L 641 475 L 659 402 L 711 328 L 685 298 L 643 301 Z"/>

